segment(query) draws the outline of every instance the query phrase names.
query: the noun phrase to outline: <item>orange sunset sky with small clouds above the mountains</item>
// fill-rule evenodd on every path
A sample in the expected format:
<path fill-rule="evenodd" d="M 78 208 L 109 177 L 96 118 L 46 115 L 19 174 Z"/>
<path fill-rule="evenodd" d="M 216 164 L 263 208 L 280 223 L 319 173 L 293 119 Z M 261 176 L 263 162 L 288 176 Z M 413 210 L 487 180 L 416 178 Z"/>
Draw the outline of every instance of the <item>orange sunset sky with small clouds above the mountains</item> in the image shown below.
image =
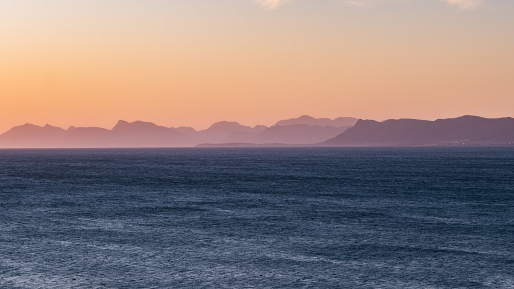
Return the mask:
<path fill-rule="evenodd" d="M 514 117 L 512 0 L 0 0 L 0 132 Z"/>

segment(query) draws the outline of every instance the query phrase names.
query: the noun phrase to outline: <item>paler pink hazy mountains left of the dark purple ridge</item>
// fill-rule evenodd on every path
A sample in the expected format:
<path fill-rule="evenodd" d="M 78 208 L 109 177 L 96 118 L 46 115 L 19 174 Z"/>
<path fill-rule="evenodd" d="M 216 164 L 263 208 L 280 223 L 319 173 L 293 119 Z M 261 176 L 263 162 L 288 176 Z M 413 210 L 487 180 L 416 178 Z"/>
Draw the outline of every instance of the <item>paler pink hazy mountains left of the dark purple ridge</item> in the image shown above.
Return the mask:
<path fill-rule="evenodd" d="M 316 144 L 352 127 L 355 118 L 315 119 L 303 115 L 266 127 L 222 121 L 208 129 L 164 127 L 150 122 L 118 121 L 112 129 L 24 124 L 0 134 L 0 148 L 191 147 L 202 143 Z"/>

